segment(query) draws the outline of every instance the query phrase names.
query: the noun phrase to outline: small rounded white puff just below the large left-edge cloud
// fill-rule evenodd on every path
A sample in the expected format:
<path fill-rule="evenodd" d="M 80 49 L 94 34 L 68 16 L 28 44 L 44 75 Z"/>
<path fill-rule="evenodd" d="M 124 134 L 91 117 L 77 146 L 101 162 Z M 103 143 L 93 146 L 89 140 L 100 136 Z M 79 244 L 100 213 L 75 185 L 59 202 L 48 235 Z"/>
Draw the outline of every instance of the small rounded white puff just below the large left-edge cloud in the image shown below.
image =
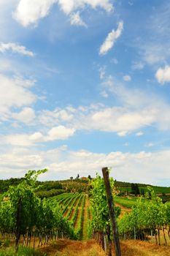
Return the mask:
<path fill-rule="evenodd" d="M 25 124 L 31 123 L 36 117 L 35 111 L 32 108 L 23 108 L 20 113 L 12 113 L 12 118 L 22 121 Z"/>

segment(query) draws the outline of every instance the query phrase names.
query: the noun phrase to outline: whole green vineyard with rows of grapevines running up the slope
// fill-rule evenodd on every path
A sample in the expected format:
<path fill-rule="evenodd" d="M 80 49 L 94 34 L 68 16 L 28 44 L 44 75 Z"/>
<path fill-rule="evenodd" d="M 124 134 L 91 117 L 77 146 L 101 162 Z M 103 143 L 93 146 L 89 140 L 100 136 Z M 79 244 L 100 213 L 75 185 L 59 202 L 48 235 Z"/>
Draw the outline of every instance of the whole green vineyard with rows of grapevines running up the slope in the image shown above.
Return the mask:
<path fill-rule="evenodd" d="M 14 255 L 23 248 L 39 248 L 40 252 L 50 245 L 55 250 L 53 245 L 60 244 L 59 241 L 64 244 L 64 239 L 77 241 L 77 246 L 78 241 L 83 243 L 95 239 L 103 249 L 102 252 L 112 255 L 112 225 L 104 179 L 96 176 L 88 182 L 68 181 L 63 183 L 63 187 L 56 182 L 46 182 L 42 187 L 43 193 L 45 187 L 51 191 L 52 184 L 55 194 L 58 189 L 59 195 L 47 195 L 44 198 L 37 193 L 41 192 L 41 184 L 37 186 L 36 178 L 46 171 L 28 171 L 20 183 L 1 194 L 0 246 L 4 248 L 7 244 L 15 244 L 15 251 L 9 254 Z M 113 192 L 115 188 L 112 178 L 110 184 Z M 80 189 L 81 192 L 78 192 Z M 149 187 L 144 196 L 113 196 L 122 247 L 129 240 L 170 245 L 169 202 L 163 203 Z M 93 242 L 89 245 L 92 246 Z M 28 255 L 28 251 L 22 253 Z M 33 253 L 31 251 L 31 255 Z"/>

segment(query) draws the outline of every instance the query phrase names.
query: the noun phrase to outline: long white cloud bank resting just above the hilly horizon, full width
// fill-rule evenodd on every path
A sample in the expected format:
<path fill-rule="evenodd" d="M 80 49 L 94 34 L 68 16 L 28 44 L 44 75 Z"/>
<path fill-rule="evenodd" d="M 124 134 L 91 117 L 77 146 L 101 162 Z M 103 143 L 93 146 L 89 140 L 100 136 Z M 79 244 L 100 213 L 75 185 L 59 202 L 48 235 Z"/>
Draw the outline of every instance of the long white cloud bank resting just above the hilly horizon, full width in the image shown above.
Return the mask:
<path fill-rule="evenodd" d="M 29 169 L 47 167 L 46 179 L 54 177 L 101 175 L 104 166 L 113 167 L 110 175 L 121 181 L 159 184 L 162 178 L 169 186 L 170 150 L 158 152 L 123 153 L 121 151 L 99 154 L 90 151 L 69 151 L 66 146 L 48 151 L 13 148 L 0 154 L 0 174 L 2 178 L 23 176 Z M 146 182 L 147 181 L 147 182 Z"/>

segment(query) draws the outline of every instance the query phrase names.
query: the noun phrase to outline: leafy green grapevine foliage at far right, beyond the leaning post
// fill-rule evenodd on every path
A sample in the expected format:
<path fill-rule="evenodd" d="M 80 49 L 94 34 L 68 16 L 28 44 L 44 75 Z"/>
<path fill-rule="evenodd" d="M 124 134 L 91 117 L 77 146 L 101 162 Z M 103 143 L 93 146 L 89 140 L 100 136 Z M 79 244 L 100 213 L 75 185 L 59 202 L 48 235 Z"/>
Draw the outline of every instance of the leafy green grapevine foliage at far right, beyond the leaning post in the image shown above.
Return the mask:
<path fill-rule="evenodd" d="M 120 234 L 130 233 L 134 236 L 136 232 L 143 233 L 150 229 L 157 233 L 160 244 L 159 230 L 170 227 L 170 203 L 162 203 L 160 197 L 155 196 L 155 192 L 148 187 L 145 198 L 139 198 L 132 211 L 125 214 L 118 222 Z"/>

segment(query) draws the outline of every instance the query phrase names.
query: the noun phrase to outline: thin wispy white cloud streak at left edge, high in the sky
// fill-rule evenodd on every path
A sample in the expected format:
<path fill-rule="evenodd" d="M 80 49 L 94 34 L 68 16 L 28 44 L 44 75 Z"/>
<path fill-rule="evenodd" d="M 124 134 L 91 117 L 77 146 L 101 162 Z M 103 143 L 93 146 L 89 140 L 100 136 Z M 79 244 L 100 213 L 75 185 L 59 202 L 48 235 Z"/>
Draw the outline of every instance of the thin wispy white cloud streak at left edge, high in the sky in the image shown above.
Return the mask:
<path fill-rule="evenodd" d="M 34 56 L 34 53 L 27 50 L 25 46 L 15 44 L 14 42 L 0 43 L 0 52 L 5 53 L 7 50 L 12 50 L 13 53 L 20 53 L 26 56 Z"/>

